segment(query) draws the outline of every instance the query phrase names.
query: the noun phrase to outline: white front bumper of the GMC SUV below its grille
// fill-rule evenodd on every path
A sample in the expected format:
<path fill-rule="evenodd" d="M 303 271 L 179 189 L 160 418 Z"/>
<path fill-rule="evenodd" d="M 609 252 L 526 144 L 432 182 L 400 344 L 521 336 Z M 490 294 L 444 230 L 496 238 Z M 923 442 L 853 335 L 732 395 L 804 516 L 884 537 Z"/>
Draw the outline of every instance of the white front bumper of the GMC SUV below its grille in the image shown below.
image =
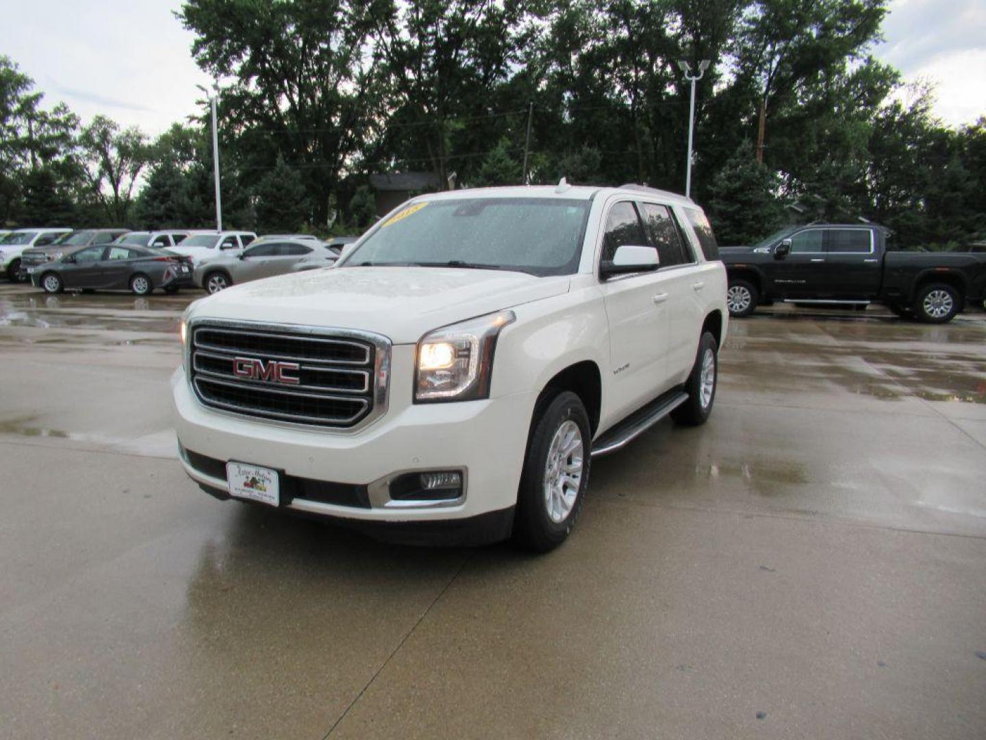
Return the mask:
<path fill-rule="evenodd" d="M 392 377 L 412 377 L 413 347 L 394 346 L 391 362 Z M 347 432 L 253 420 L 203 407 L 179 368 L 172 386 L 181 464 L 190 478 L 220 497 L 228 495 L 224 468 L 233 460 L 281 471 L 289 481 L 282 507 L 295 511 L 350 523 L 418 525 L 405 529 L 429 532 L 432 525 L 448 522 L 455 525 L 449 528 L 449 544 L 458 543 L 460 538 L 453 536 L 457 529 L 484 521 L 477 518 L 492 517 L 499 522 L 493 529 L 502 530 L 504 517 L 509 525 L 507 515 L 517 502 L 533 394 L 414 405 L 410 385 L 394 384 L 387 413 L 365 428 Z M 196 456 L 211 462 L 202 464 Z M 463 472 L 460 498 L 408 505 L 379 494 L 398 474 L 438 470 Z M 326 486 L 357 493 L 348 505 L 338 497 L 306 497 L 306 491 Z M 495 538 L 479 539 L 503 539 L 507 534 L 509 526 Z"/>

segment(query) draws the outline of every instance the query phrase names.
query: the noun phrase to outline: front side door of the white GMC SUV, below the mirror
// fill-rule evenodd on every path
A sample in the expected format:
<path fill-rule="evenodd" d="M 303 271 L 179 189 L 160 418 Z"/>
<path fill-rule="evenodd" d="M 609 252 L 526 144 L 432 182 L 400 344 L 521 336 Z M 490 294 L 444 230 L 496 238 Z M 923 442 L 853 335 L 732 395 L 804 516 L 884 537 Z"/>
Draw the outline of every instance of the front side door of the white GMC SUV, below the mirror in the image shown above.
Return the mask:
<path fill-rule="evenodd" d="M 612 203 L 603 221 L 600 259 L 623 245 L 654 249 L 632 200 Z M 643 406 L 668 388 L 669 289 L 660 270 L 617 275 L 599 283 L 609 325 L 607 405 L 616 417 Z"/>

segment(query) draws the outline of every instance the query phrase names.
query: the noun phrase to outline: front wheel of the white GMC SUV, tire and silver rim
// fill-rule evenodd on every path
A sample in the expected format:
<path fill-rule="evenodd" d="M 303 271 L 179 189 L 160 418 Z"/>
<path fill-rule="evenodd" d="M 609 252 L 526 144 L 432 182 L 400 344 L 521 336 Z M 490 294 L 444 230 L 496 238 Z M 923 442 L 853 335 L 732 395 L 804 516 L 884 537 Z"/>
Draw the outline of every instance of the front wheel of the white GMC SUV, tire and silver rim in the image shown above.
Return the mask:
<path fill-rule="evenodd" d="M 528 439 L 514 518 L 514 540 L 547 553 L 564 542 L 582 510 L 589 485 L 589 414 L 574 393 L 538 404 Z"/>

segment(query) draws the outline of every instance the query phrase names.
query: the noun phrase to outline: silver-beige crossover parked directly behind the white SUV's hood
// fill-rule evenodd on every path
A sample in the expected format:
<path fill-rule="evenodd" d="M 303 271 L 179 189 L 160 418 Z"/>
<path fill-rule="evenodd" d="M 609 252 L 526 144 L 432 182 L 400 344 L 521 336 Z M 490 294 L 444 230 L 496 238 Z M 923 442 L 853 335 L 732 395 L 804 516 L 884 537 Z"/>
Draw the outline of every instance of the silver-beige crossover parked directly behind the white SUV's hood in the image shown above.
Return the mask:
<path fill-rule="evenodd" d="M 239 254 L 199 262 L 195 267 L 195 284 L 209 293 L 218 293 L 231 285 L 261 277 L 329 267 L 336 259 L 336 254 L 321 242 L 262 237 Z"/>

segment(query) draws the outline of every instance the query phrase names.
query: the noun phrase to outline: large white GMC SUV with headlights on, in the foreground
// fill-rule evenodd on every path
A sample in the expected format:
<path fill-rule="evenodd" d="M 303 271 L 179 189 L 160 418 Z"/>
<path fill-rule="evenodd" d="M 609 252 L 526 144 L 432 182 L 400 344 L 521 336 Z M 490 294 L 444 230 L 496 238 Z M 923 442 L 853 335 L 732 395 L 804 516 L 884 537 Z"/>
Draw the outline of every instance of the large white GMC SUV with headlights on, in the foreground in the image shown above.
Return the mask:
<path fill-rule="evenodd" d="M 701 209 L 648 187 L 424 195 L 337 266 L 233 287 L 182 320 L 187 474 L 410 543 L 575 524 L 590 460 L 708 418 L 726 270 Z"/>

